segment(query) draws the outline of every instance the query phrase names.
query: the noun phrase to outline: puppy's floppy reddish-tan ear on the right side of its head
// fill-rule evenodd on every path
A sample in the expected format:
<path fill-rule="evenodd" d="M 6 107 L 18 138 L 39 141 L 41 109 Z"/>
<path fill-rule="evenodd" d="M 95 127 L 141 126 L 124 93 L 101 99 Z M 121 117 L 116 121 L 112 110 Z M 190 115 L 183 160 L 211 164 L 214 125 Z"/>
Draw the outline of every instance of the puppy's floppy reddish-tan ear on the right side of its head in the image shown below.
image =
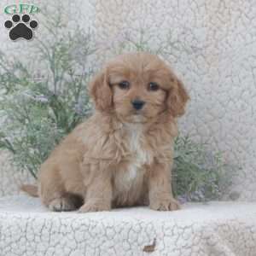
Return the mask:
<path fill-rule="evenodd" d="M 183 115 L 189 95 L 181 80 L 172 77 L 172 88 L 168 91 L 167 106 L 173 117 Z"/>

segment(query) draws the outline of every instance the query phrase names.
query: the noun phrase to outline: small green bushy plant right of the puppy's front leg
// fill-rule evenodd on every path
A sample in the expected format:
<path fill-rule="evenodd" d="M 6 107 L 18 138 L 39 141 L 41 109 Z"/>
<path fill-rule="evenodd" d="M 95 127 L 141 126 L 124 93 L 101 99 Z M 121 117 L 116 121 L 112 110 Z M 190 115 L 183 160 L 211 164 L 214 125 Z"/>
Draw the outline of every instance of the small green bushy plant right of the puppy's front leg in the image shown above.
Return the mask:
<path fill-rule="evenodd" d="M 177 137 L 174 145 L 172 189 L 182 201 L 219 200 L 230 187 L 228 166 L 220 152 L 195 143 L 189 136 Z"/>

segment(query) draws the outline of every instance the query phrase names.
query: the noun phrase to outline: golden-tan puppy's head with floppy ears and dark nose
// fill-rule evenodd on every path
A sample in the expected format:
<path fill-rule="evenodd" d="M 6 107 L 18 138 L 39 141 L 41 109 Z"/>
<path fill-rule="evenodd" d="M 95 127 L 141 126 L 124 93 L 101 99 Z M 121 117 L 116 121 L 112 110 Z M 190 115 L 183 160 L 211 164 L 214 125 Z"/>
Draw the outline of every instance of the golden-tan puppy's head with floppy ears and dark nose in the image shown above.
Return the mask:
<path fill-rule="evenodd" d="M 143 123 L 167 111 L 184 113 L 189 96 L 183 83 L 156 55 L 119 55 L 90 83 L 96 109 L 124 122 Z"/>

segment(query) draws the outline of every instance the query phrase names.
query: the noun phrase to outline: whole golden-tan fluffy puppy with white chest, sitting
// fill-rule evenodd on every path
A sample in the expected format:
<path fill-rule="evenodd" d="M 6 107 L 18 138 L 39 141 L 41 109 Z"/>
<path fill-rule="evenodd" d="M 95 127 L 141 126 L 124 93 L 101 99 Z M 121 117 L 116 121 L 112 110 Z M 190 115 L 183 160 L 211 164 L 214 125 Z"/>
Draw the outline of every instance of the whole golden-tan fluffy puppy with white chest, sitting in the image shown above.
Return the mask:
<path fill-rule="evenodd" d="M 176 118 L 189 96 L 156 55 L 119 55 L 90 83 L 96 113 L 41 166 L 38 195 L 53 211 L 149 205 L 177 210 L 171 169 Z M 23 189 L 36 195 L 31 185 Z"/>

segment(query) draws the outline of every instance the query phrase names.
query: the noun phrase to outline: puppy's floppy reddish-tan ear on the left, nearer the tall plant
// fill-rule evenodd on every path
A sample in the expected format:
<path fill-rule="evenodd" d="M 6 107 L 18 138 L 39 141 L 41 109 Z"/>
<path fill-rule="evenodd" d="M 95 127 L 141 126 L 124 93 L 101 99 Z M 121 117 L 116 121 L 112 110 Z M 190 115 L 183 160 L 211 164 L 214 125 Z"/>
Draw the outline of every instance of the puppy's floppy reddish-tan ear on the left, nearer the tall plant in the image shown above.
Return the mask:
<path fill-rule="evenodd" d="M 89 93 L 95 102 L 96 109 L 108 111 L 112 106 L 112 90 L 108 84 L 107 70 L 98 73 L 90 82 Z"/>

